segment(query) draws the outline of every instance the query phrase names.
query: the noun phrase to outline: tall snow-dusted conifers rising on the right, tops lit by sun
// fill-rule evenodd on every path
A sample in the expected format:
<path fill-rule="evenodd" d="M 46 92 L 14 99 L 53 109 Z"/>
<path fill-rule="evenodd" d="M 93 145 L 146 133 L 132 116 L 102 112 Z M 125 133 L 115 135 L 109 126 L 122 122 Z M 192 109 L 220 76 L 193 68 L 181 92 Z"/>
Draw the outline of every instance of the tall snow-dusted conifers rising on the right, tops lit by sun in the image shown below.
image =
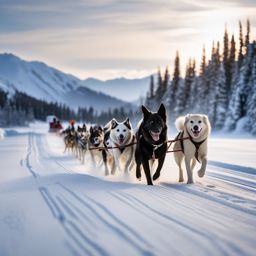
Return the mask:
<path fill-rule="evenodd" d="M 195 59 L 189 59 L 185 77 L 181 76 L 177 51 L 172 76 L 168 68 L 151 76 L 145 104 L 151 108 L 165 103 L 169 121 L 179 115 L 203 113 L 209 116 L 215 130 L 234 130 L 239 122 L 256 135 L 256 41 L 250 40 L 250 21 L 246 33 L 239 21 L 239 43 L 227 28 L 223 47 L 213 42 L 207 61 L 203 47 L 199 74 Z M 156 80 L 156 81 L 155 81 Z"/>

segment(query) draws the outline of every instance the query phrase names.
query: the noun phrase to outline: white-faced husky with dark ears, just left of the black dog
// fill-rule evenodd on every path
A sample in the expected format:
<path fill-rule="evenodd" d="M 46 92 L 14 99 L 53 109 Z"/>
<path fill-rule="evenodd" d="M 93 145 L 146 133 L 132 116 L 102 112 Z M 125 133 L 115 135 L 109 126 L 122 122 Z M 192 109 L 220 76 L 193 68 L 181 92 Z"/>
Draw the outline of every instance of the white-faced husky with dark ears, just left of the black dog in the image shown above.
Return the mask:
<path fill-rule="evenodd" d="M 105 174 L 108 174 L 107 158 L 113 158 L 111 174 L 115 173 L 116 168 L 121 171 L 121 159 L 126 162 L 124 170 L 131 170 L 135 145 L 130 145 L 128 147 L 126 147 L 126 145 L 134 143 L 135 136 L 129 118 L 121 123 L 117 122 L 116 119 L 112 119 L 104 127 L 104 131 L 104 145 L 107 153 L 106 159 L 103 159 L 105 163 Z M 114 148 L 108 149 L 108 147 Z"/>

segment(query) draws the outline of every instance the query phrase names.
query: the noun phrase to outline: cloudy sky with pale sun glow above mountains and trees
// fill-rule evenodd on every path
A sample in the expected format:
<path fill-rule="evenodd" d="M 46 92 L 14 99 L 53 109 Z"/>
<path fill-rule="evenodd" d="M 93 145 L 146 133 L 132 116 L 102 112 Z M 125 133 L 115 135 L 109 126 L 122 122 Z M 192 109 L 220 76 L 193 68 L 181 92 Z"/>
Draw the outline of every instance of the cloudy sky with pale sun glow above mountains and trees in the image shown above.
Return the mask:
<path fill-rule="evenodd" d="M 200 60 L 239 19 L 256 39 L 255 14 L 256 0 L 0 0 L 0 51 L 82 79 L 142 77 L 176 50 L 183 67 Z"/>

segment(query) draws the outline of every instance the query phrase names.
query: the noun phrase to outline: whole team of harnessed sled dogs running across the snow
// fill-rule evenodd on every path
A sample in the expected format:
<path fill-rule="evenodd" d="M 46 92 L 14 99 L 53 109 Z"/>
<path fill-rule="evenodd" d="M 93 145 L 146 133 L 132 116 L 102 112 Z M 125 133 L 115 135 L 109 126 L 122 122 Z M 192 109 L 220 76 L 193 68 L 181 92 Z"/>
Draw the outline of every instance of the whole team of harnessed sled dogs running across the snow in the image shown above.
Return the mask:
<path fill-rule="evenodd" d="M 118 122 L 115 118 L 103 128 L 86 125 L 77 127 L 74 124 L 66 129 L 64 152 L 75 152 L 84 163 L 85 153 L 89 150 L 95 165 L 104 164 L 105 175 L 119 171 L 130 171 L 136 165 L 136 177 L 141 179 L 141 167 L 144 169 L 147 184 L 159 178 L 168 151 L 166 109 L 160 105 L 157 112 L 151 112 L 142 105 L 143 118 L 133 131 L 129 118 Z M 185 161 L 187 183 L 193 183 L 193 169 L 196 161 L 201 164 L 198 176 L 203 177 L 207 165 L 207 141 L 211 125 L 206 115 L 188 114 L 176 119 L 175 126 L 179 131 L 174 142 L 174 159 L 179 167 L 179 182 L 183 182 L 182 162 Z M 153 177 L 150 166 L 158 160 Z M 150 164 L 151 162 L 151 164 Z M 122 163 L 124 163 L 122 165 Z"/>

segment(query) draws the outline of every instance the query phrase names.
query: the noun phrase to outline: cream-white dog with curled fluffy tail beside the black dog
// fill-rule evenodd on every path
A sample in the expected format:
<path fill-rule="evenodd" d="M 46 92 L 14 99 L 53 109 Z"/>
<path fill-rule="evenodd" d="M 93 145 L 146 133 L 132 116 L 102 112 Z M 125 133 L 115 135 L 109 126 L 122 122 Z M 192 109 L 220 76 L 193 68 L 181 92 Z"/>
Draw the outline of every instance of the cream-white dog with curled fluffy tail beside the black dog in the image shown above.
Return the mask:
<path fill-rule="evenodd" d="M 174 152 L 175 161 L 179 166 L 179 182 L 184 181 L 181 164 L 185 157 L 185 166 L 188 175 L 187 183 L 193 183 L 192 171 L 196 165 L 196 160 L 201 162 L 198 176 L 203 177 L 205 174 L 207 165 L 207 144 L 208 136 L 211 132 L 211 125 L 206 115 L 188 114 L 185 117 L 177 118 L 175 126 L 177 130 L 180 131 L 177 136 L 178 139 L 189 137 L 189 139 L 180 140 L 174 144 L 174 150 L 182 150 Z"/>

